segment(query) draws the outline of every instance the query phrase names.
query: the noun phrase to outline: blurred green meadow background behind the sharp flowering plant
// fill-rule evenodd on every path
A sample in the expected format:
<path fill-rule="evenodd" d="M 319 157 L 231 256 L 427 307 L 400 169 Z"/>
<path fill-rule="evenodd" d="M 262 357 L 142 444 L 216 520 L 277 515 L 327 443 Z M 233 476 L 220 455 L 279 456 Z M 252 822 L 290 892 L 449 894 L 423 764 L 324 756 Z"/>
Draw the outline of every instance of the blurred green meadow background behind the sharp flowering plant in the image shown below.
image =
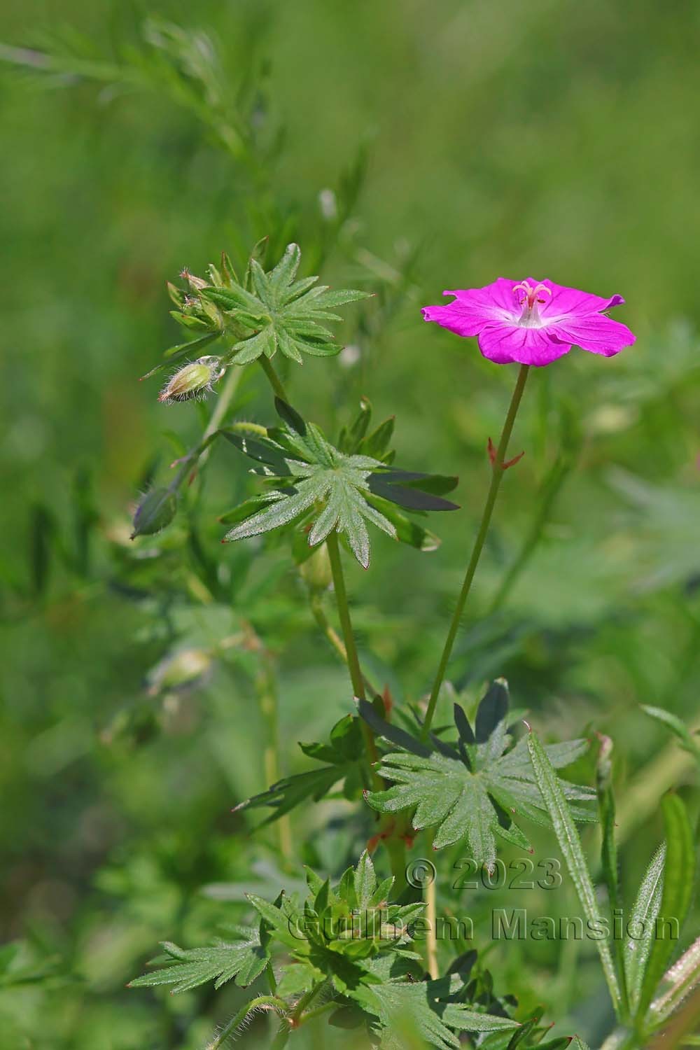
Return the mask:
<path fill-rule="evenodd" d="M 257 166 L 168 90 L 16 61 L 31 47 L 128 65 L 153 52 L 153 17 L 207 34 Z M 4 10 L 2 37 L 0 925 L 21 944 L 0 1045 L 194 1048 L 240 1000 L 124 988 L 158 940 L 201 943 L 245 888 L 279 888 L 270 833 L 251 843 L 256 821 L 231 814 L 266 786 L 247 657 L 215 660 L 186 695 L 148 695 L 158 660 L 252 621 L 277 669 L 287 772 L 309 766 L 296 740 L 349 710 L 284 548 L 218 545 L 216 516 L 254 490 L 233 453 L 214 450 L 189 518 L 127 539 L 134 496 L 177 447 L 164 432 L 187 447 L 201 428 L 197 406 L 158 405 L 158 380 L 137 381 L 181 341 L 165 281 L 224 248 L 242 259 L 264 234 L 273 254 L 298 239 L 305 273 L 322 264 L 327 282 L 377 292 L 345 311 L 353 352 L 287 370 L 299 407 L 334 432 L 364 394 L 396 413 L 399 463 L 461 478 L 462 511 L 432 523 L 437 552 L 375 537 L 369 571 L 348 565 L 363 651 L 396 702 L 429 687 L 514 382 L 420 307 L 499 275 L 627 298 L 615 316 L 633 349 L 573 351 L 530 380 L 513 443 L 527 455 L 451 677 L 475 691 L 507 675 L 552 739 L 614 737 L 632 892 L 660 793 L 677 784 L 698 810 L 687 756 L 639 711 L 700 716 L 697 3 L 27 0 Z M 272 422 L 256 370 L 236 416 Z M 366 838 L 347 813 L 295 814 L 298 856 L 342 868 Z M 606 1016 L 592 947 L 496 945 L 488 965 L 502 991 L 593 1041 Z M 15 984 L 20 971 L 36 985 Z"/>

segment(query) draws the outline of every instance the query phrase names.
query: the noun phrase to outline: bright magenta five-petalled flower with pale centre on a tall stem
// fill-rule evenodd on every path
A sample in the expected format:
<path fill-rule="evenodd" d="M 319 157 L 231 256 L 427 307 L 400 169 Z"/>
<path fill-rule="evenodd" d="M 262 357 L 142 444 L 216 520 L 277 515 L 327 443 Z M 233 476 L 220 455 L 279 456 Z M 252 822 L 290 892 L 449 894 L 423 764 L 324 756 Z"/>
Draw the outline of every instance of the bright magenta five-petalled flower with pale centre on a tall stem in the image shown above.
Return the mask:
<path fill-rule="evenodd" d="M 603 299 L 532 277 L 519 282 L 499 277 L 484 288 L 443 295 L 455 298 L 446 307 L 424 307 L 425 320 L 476 336 L 484 357 L 496 364 L 551 364 L 572 346 L 613 357 L 636 338 L 603 313 L 624 302 L 621 295 Z"/>

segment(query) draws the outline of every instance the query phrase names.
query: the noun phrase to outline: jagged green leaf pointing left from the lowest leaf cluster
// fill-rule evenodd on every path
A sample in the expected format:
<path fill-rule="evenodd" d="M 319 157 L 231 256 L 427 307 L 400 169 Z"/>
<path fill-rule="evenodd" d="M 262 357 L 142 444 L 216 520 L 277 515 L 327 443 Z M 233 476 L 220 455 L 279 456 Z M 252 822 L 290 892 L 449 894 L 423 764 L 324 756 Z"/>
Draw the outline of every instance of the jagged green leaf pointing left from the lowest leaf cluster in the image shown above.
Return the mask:
<path fill-rule="evenodd" d="M 260 944 L 257 929 L 251 928 L 245 933 L 247 936 L 240 942 L 217 941 L 206 948 L 178 948 L 176 944 L 164 941 L 166 954 L 156 961 L 165 965 L 152 973 L 136 978 L 128 987 L 172 985 L 174 995 L 176 992 L 190 991 L 208 981 L 213 981 L 214 987 L 220 988 L 228 981 L 235 980 L 235 984 L 247 988 L 260 975 L 270 957 Z"/>

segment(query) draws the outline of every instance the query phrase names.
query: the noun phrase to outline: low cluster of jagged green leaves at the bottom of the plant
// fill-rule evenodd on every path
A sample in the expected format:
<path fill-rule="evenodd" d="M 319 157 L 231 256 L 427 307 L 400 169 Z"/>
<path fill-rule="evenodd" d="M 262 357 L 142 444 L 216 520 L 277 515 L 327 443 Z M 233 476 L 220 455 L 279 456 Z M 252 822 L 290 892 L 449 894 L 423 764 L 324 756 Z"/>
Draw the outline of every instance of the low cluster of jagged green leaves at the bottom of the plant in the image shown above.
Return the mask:
<path fill-rule="evenodd" d="M 455 1001 L 465 985 L 458 974 L 442 981 L 421 980 L 421 957 L 411 945 L 411 924 L 422 903 L 393 904 L 394 879 L 378 881 L 368 853 L 332 885 L 307 872 L 309 894 L 302 902 L 280 894 L 274 904 L 255 894 L 249 902 L 259 915 L 257 928 L 236 928 L 237 942 L 218 941 L 211 947 L 183 950 L 164 943 L 165 956 L 151 961 L 152 973 L 136 978 L 131 987 L 172 985 L 172 992 L 190 991 L 209 981 L 220 988 L 228 981 L 247 987 L 281 949 L 291 963 L 277 985 L 279 996 L 325 988 L 326 1003 L 339 1010 L 353 1006 L 377 1031 L 381 1046 L 400 1044 L 391 1033 L 396 1017 L 431 1046 L 458 1047 L 454 1031 L 512 1030 L 516 1023 Z M 293 1002 L 289 1005 L 293 1015 Z M 352 1012 L 352 1009 L 351 1009 Z M 336 1018 L 338 1024 L 338 1018 Z"/>

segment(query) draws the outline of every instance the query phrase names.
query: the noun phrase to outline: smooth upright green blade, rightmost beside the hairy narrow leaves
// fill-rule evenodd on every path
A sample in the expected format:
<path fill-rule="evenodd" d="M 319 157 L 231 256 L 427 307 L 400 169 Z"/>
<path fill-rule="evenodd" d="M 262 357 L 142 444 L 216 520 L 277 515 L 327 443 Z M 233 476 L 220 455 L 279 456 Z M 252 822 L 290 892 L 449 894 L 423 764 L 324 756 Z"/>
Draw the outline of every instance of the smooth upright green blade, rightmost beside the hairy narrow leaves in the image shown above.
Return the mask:
<path fill-rule="evenodd" d="M 678 795 L 666 795 L 661 802 L 666 837 L 666 862 L 663 870 L 663 891 L 658 922 L 677 922 L 679 929 L 687 916 L 695 881 L 695 837 L 687 812 Z M 652 998 L 663 976 L 676 945 L 664 930 L 658 930 L 652 942 L 637 1003 L 636 1017 L 645 1017 Z"/>

